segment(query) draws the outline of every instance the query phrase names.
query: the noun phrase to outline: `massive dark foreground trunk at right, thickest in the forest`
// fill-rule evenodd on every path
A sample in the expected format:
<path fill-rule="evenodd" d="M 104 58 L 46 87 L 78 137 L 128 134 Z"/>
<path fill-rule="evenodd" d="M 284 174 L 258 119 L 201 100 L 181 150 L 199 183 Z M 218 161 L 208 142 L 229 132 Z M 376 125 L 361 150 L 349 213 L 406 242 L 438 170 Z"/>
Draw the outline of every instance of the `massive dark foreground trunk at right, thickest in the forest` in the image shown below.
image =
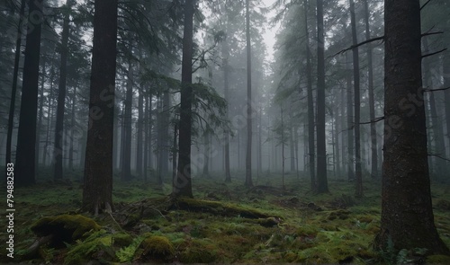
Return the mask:
<path fill-rule="evenodd" d="M 375 245 L 448 255 L 431 205 L 419 0 L 386 0 L 384 26 L 382 224 Z"/>

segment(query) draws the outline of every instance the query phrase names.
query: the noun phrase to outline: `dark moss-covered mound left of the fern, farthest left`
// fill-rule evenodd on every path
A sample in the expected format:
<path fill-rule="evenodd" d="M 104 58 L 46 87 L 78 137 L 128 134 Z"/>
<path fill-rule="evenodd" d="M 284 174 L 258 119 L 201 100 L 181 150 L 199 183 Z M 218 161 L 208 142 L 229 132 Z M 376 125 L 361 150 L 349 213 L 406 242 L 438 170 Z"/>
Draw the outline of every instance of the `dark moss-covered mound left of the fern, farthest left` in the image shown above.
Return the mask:
<path fill-rule="evenodd" d="M 100 230 L 101 226 L 91 218 L 81 215 L 60 215 L 42 217 L 31 225 L 31 231 L 38 236 L 53 234 L 50 244 L 72 243 L 86 233 Z"/>

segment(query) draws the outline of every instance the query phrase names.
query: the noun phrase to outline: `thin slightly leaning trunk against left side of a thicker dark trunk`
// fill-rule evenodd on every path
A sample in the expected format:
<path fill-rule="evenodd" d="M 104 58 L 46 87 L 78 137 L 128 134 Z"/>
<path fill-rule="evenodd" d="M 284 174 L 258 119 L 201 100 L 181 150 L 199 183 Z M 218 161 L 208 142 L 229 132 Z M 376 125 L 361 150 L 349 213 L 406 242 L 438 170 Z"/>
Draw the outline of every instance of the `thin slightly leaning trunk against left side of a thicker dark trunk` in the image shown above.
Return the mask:
<path fill-rule="evenodd" d="M 308 155 L 310 163 L 311 190 L 317 189 L 316 183 L 316 154 L 315 154 L 315 129 L 314 129 L 314 101 L 312 95 L 312 66 L 310 50 L 310 30 L 308 28 L 308 0 L 304 0 L 305 38 L 306 38 L 306 82 L 308 98 Z"/>

